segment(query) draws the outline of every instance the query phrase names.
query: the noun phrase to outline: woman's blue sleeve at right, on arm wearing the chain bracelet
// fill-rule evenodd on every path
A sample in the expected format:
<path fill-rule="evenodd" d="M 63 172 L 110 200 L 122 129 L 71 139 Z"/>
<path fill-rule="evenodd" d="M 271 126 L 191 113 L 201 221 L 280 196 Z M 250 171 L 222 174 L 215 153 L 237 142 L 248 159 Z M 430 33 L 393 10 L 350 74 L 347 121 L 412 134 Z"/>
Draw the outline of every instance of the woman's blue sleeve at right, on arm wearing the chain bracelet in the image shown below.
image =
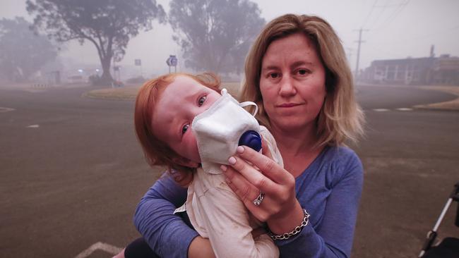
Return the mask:
<path fill-rule="evenodd" d="M 354 152 L 348 154 L 345 159 L 334 161 L 329 171 L 321 171 L 330 175 L 335 166 L 340 172 L 334 173 L 320 223 L 314 226 L 310 223 L 293 238 L 275 241 L 280 257 L 350 257 L 362 194 L 363 167 Z"/>

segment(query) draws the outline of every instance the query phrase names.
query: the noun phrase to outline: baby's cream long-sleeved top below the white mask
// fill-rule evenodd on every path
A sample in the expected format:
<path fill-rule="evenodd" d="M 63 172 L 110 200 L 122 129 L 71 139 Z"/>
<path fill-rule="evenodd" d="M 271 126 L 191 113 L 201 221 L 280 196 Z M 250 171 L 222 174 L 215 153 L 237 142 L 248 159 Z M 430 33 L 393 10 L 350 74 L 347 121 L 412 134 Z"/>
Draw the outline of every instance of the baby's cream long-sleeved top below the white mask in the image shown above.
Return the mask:
<path fill-rule="evenodd" d="M 196 192 L 194 188 L 198 188 Z M 189 187 L 186 209 L 196 230 L 209 238 L 216 257 L 279 257 L 278 247 L 268 235 L 252 237 L 254 219 L 223 175 L 198 170 Z"/>

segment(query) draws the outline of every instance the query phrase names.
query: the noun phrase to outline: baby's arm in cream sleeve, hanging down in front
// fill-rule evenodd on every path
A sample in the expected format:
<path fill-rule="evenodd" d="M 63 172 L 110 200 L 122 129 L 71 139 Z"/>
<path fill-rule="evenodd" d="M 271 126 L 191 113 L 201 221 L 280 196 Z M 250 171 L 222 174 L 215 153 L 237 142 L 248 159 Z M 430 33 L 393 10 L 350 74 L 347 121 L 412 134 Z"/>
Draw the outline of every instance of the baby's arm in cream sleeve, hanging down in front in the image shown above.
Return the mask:
<path fill-rule="evenodd" d="M 216 257 L 279 257 L 268 235 L 253 238 L 249 211 L 226 183 L 205 192 L 195 205 Z"/>

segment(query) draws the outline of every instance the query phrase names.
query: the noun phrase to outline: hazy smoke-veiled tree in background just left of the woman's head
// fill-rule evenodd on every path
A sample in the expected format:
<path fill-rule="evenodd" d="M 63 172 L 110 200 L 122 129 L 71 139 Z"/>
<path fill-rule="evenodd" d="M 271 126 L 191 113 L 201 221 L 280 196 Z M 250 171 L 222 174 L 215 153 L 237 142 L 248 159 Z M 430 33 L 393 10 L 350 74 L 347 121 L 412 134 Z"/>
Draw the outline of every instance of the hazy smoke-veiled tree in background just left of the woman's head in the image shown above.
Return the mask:
<path fill-rule="evenodd" d="M 239 73 L 265 20 L 249 0 L 172 0 L 169 23 L 187 67 Z"/>

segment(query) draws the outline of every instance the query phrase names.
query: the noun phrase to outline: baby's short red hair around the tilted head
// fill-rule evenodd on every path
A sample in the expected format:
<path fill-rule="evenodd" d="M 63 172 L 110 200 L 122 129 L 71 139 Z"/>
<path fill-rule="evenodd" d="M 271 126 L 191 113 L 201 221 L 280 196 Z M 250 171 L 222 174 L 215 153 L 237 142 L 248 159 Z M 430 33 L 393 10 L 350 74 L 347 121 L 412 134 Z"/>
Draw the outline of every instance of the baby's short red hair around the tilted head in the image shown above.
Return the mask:
<path fill-rule="evenodd" d="M 156 103 L 165 88 L 178 76 L 187 76 L 205 87 L 220 92 L 220 79 L 212 73 L 203 73 L 201 75 L 172 73 L 149 80 L 142 85 L 137 94 L 134 126 L 138 142 L 142 146 L 147 163 L 150 166 L 167 166 L 167 171 L 174 171 L 173 176 L 177 183 L 186 185 L 193 179 L 193 172 L 196 171 L 196 168 L 180 166 L 174 162 L 173 159 L 179 157 L 179 154 L 174 152 L 167 142 L 163 142 L 155 137 L 152 126 Z"/>

